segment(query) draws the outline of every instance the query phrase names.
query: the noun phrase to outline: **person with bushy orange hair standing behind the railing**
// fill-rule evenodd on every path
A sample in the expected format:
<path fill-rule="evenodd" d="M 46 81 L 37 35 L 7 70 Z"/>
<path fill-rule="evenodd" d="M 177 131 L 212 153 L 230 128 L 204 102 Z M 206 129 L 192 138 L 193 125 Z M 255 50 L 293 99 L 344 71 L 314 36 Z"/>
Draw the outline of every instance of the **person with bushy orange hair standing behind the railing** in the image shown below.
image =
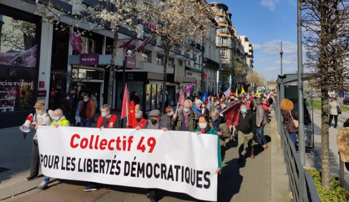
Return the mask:
<path fill-rule="evenodd" d="M 293 145 L 296 145 L 297 128 L 293 123 L 293 120 L 298 120 L 297 115 L 293 112 L 293 103 L 290 99 L 284 98 L 280 103 L 281 114 L 284 119 L 283 125 L 286 126 L 288 133 L 290 134 Z"/>

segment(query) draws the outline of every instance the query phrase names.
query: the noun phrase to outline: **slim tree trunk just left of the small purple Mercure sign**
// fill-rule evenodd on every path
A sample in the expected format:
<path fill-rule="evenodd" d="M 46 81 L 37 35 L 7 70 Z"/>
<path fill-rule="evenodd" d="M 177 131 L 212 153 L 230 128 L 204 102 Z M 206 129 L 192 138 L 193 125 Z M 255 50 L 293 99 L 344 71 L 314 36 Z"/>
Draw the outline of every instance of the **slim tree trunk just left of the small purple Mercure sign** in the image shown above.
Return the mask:
<path fill-rule="evenodd" d="M 114 78 L 115 78 L 115 57 L 116 57 L 116 44 L 117 44 L 117 38 L 118 38 L 118 31 L 119 27 L 116 27 L 114 30 L 114 39 L 113 39 L 113 48 L 111 52 L 111 61 L 110 61 L 110 74 L 109 74 L 109 83 L 108 83 L 108 98 L 107 103 L 112 108 L 112 102 L 113 102 L 113 87 L 114 87 Z"/>

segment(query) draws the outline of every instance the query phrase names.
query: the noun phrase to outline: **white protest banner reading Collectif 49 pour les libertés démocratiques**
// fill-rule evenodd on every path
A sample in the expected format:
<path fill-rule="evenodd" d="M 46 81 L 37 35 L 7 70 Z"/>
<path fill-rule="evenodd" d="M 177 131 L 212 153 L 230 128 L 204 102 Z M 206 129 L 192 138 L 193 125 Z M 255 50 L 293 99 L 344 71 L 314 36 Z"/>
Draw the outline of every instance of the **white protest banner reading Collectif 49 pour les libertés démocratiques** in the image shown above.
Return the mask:
<path fill-rule="evenodd" d="M 217 136 L 191 132 L 39 126 L 42 173 L 217 199 Z"/>

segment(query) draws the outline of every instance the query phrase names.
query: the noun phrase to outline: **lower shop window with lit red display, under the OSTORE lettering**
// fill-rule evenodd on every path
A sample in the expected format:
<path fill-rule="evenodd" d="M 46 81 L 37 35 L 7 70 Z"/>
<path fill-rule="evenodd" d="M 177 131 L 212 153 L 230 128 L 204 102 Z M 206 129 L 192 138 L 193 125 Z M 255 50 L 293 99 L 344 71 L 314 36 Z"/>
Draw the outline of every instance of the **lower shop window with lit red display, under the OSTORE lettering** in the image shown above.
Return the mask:
<path fill-rule="evenodd" d="M 0 112 L 32 109 L 33 83 L 30 79 L 0 80 Z"/>

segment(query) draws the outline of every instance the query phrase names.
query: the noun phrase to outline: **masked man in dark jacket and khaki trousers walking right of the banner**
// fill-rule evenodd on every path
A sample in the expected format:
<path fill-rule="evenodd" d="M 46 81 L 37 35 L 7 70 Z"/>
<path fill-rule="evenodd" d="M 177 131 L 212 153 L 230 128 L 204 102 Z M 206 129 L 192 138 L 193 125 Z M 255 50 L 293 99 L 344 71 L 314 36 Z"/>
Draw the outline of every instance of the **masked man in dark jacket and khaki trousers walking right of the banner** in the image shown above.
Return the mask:
<path fill-rule="evenodd" d="M 241 113 L 239 114 L 239 122 L 236 127 L 238 131 L 238 149 L 239 149 L 239 160 L 238 163 L 242 163 L 245 155 L 244 143 L 248 144 L 248 150 L 250 151 L 250 158 L 254 159 L 253 154 L 253 136 L 256 130 L 256 120 L 253 114 L 247 111 L 244 103 L 240 106 Z"/>

